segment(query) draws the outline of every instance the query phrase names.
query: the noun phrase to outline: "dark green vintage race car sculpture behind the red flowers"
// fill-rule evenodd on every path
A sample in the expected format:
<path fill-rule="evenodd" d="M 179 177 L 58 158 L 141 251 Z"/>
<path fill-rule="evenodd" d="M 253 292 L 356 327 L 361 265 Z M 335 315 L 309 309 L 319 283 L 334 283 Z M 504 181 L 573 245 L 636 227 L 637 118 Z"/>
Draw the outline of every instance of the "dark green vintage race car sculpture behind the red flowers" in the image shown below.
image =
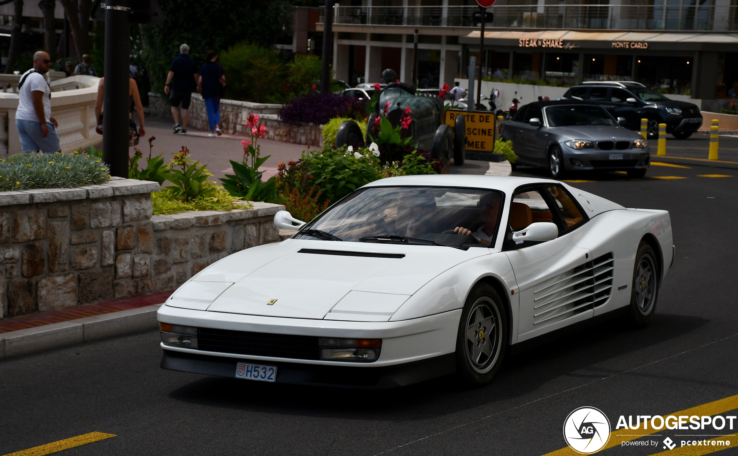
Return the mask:
<path fill-rule="evenodd" d="M 389 104 L 387 104 L 389 103 Z M 387 106 L 385 109 L 384 106 Z M 339 125 L 336 133 L 336 145 L 369 144 L 370 137 L 376 137 L 375 119 L 387 117 L 393 127 L 400 125 L 405 108 L 412 111 L 409 115 L 410 136 L 418 142 L 418 148 L 430 151 L 430 155 L 441 162 L 463 165 L 466 153 L 466 126 L 464 118 L 457 116 L 455 125 L 444 124 L 444 103 L 435 94 L 415 94 L 415 86 L 409 83 L 389 83 L 379 93 L 379 102 L 367 122 L 367 135 L 362 137 L 361 128 L 354 120 L 347 120 Z"/>

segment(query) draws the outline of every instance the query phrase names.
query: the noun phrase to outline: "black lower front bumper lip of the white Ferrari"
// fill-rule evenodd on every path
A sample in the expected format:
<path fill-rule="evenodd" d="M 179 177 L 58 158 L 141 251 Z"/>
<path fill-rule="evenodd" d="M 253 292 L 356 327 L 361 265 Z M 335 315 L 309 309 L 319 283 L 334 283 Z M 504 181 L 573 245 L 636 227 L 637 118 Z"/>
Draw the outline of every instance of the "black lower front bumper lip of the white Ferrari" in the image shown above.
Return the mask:
<path fill-rule="evenodd" d="M 235 378 L 236 365 L 248 359 L 224 358 L 163 350 L 162 369 Z M 270 362 L 277 366 L 276 383 L 383 390 L 418 383 L 456 371 L 455 353 L 385 367 L 347 367 Z"/>

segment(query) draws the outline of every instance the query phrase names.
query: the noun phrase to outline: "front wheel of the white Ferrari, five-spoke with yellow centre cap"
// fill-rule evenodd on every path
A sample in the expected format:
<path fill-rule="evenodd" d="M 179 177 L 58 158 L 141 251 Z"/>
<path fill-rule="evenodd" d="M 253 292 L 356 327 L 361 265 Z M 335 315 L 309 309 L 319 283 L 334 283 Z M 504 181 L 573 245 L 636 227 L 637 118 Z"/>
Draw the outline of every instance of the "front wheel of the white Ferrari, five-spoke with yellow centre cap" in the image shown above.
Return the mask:
<path fill-rule="evenodd" d="M 507 348 L 507 312 L 494 287 L 475 286 L 461 312 L 456 338 L 456 372 L 466 384 L 480 386 L 500 370 Z"/>

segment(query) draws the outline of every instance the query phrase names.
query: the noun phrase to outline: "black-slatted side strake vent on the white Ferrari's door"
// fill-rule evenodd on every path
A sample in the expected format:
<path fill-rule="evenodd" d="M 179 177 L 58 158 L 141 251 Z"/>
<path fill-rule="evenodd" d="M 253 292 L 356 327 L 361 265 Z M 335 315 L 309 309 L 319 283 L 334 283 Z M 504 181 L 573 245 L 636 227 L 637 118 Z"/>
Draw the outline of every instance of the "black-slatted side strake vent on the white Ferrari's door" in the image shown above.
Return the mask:
<path fill-rule="evenodd" d="M 533 324 L 551 324 L 607 302 L 613 292 L 613 254 L 559 274 L 533 292 Z"/>

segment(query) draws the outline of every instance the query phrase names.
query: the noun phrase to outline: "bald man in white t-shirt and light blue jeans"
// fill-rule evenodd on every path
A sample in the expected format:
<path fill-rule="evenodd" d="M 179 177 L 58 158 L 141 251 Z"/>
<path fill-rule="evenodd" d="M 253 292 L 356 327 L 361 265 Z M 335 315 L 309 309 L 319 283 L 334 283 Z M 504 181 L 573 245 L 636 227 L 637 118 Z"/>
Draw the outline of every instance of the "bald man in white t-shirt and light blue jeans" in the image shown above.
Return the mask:
<path fill-rule="evenodd" d="M 51 58 L 44 51 L 33 55 L 33 68 L 21 76 L 18 83 L 18 111 L 15 111 L 15 128 L 21 137 L 24 152 L 61 151 L 59 124 L 51 117 L 51 88 L 44 75 L 51 68 Z"/>

